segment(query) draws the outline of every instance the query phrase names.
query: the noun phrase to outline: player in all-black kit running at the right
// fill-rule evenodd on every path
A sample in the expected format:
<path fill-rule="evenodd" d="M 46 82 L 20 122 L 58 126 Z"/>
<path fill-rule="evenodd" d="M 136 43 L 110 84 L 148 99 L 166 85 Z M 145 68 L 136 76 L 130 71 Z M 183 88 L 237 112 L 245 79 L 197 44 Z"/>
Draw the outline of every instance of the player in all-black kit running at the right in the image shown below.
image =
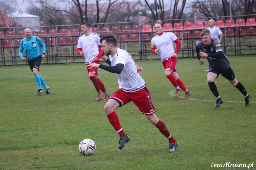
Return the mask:
<path fill-rule="evenodd" d="M 196 53 L 200 65 L 204 65 L 201 57 L 207 57 L 209 62 L 209 72 L 207 74 L 207 82 L 213 95 L 217 98 L 215 107 L 220 107 L 223 103 L 218 93 L 214 80 L 221 74 L 229 80 L 229 82 L 244 95 L 245 106 L 250 106 L 251 96 L 247 94 L 244 86 L 236 80 L 235 74 L 230 67 L 226 54 L 222 51 L 220 43 L 217 39 L 211 38 L 209 30 L 202 30 L 200 33 L 202 41 L 196 42 Z M 203 52 L 200 52 L 203 51 Z"/>

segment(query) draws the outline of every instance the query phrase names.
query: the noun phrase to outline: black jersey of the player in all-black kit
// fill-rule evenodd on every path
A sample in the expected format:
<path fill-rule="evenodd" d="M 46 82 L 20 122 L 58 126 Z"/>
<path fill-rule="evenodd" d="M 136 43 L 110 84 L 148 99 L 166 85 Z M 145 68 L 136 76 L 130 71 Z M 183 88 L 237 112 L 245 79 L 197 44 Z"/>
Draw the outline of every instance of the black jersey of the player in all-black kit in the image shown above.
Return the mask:
<path fill-rule="evenodd" d="M 206 54 L 214 54 L 214 53 L 221 51 L 221 56 L 218 58 L 213 58 L 213 57 L 209 57 L 209 56 L 207 57 L 207 60 L 209 62 L 209 68 L 228 69 L 230 67 L 228 57 L 223 52 L 223 50 L 220 46 L 220 43 L 217 39 L 211 38 L 211 44 L 209 46 L 206 46 L 203 43 L 203 41 L 197 41 L 196 48 L 199 49 L 199 52 L 201 50 Z M 200 55 L 199 54 L 197 54 L 197 55 L 198 55 L 198 58 L 200 59 Z"/>

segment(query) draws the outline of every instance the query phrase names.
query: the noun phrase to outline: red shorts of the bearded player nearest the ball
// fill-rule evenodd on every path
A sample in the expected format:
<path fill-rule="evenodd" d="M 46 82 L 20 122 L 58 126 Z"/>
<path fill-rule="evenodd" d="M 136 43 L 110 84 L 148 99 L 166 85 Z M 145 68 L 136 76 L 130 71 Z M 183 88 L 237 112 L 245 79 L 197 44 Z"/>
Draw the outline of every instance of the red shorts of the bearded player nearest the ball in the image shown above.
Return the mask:
<path fill-rule="evenodd" d="M 110 98 L 117 101 L 120 105 L 119 107 L 133 101 L 142 114 L 153 114 L 156 112 L 155 107 L 151 102 L 150 93 L 146 87 L 131 93 L 118 89 L 114 94 L 111 95 Z"/>

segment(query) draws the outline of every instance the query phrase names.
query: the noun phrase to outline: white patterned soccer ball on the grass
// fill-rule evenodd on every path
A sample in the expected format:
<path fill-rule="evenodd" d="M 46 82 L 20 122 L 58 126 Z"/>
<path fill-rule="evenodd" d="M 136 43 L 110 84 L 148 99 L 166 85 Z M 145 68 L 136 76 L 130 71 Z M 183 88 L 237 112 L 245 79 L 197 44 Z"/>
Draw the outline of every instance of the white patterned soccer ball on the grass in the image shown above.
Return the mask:
<path fill-rule="evenodd" d="M 96 145 L 91 139 L 84 139 L 79 144 L 79 151 L 83 155 L 92 155 L 95 152 Z"/>

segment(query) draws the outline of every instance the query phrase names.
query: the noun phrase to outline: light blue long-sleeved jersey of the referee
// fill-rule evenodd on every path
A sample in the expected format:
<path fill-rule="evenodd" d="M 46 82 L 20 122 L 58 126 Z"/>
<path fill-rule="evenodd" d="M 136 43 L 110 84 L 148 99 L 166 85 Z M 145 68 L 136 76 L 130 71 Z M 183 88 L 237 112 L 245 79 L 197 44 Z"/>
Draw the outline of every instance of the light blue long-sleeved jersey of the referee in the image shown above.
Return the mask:
<path fill-rule="evenodd" d="M 26 37 L 20 41 L 19 55 L 20 58 L 23 56 L 23 50 L 26 52 L 28 60 L 32 60 L 41 55 L 39 51 L 39 45 L 42 47 L 42 53 L 45 53 L 45 44 L 44 42 L 35 36 L 31 36 L 28 40 Z"/>

